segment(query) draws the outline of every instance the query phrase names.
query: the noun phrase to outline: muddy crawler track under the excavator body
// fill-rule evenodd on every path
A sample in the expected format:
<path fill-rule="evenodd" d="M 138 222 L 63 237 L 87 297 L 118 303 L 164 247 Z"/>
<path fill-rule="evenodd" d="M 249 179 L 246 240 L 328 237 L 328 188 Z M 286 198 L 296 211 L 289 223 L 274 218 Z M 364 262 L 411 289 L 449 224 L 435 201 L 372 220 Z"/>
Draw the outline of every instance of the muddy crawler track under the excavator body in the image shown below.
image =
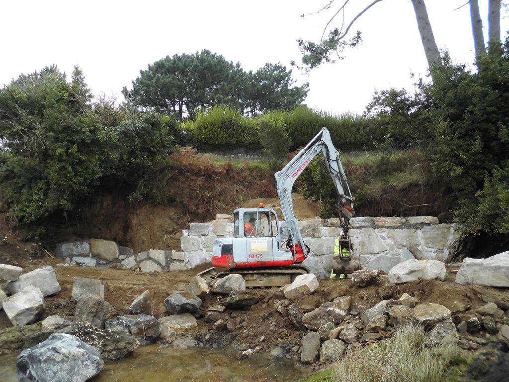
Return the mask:
<path fill-rule="evenodd" d="M 260 287 L 278 287 L 291 284 L 299 275 L 309 273 L 309 269 L 304 265 L 289 265 L 270 268 L 232 268 L 217 271 L 217 268 L 209 268 L 201 272 L 199 276 L 204 277 L 207 281 L 220 279 L 222 277 L 237 274 L 241 275 L 245 282 L 246 288 Z"/>

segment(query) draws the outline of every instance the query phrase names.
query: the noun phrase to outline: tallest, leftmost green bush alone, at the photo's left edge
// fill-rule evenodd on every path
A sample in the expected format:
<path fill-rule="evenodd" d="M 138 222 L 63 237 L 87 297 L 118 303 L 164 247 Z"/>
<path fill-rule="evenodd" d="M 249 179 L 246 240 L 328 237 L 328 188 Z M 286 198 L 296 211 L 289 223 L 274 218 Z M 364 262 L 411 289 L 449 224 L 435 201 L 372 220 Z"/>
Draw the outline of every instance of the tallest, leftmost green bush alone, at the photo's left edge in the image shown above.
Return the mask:
<path fill-rule="evenodd" d="M 0 183 L 13 221 L 69 210 L 104 174 L 108 132 L 98 123 L 81 71 L 21 75 L 0 90 Z"/>

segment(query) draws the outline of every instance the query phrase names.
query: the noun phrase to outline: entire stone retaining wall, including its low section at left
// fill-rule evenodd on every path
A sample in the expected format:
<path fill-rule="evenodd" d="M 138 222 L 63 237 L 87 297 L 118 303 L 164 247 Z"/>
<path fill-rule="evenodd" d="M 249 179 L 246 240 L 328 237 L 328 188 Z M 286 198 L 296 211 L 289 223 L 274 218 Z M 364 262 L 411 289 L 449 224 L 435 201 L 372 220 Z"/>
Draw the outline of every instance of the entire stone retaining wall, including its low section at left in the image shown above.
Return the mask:
<path fill-rule="evenodd" d="M 334 239 L 340 234 L 338 219 L 298 222 L 311 250 L 304 261 L 317 277 L 328 277 L 332 267 Z M 353 254 L 363 268 L 388 272 L 394 265 L 412 259 L 414 244 L 432 260 L 447 262 L 454 255 L 460 236 L 453 224 L 439 224 L 436 217 L 354 217 L 350 221 Z M 284 238 L 288 230 L 281 223 Z M 135 254 L 114 241 L 90 239 L 59 244 L 56 255 L 71 265 L 115 266 L 144 272 L 192 269 L 212 258 L 212 242 L 233 237 L 232 216 L 217 214 L 209 223 L 191 223 L 182 231 L 181 251 L 150 249 Z"/>

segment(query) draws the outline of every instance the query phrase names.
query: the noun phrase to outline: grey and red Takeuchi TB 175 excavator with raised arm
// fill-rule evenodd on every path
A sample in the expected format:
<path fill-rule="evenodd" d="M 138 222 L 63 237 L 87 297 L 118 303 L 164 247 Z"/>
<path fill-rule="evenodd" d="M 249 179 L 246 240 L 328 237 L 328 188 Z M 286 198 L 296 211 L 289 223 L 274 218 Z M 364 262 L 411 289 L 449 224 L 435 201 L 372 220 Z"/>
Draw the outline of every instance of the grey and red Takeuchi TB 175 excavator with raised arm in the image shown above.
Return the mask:
<path fill-rule="evenodd" d="M 217 238 L 212 244 L 212 265 L 225 269 L 215 275 L 215 278 L 235 273 L 244 278 L 246 287 L 272 287 L 290 284 L 298 275 L 309 273 L 301 264 L 310 250 L 297 224 L 292 188 L 318 153 L 325 159 L 337 192 L 338 207 L 341 208 L 340 222 L 343 231 L 336 240 L 341 249 L 353 250 L 348 235 L 348 221 L 354 213 L 355 198 L 350 192 L 340 154 L 332 144 L 329 130 L 323 127 L 282 170 L 274 174 L 285 222 L 280 225 L 276 210 L 263 204 L 258 208 L 236 209 L 233 216 L 235 237 Z M 287 234 L 283 235 L 282 231 Z M 341 253 L 340 251 L 339 256 L 334 256 L 333 271 L 348 274 L 360 269 L 360 263 L 353 259 L 353 255 L 343 257 Z"/>

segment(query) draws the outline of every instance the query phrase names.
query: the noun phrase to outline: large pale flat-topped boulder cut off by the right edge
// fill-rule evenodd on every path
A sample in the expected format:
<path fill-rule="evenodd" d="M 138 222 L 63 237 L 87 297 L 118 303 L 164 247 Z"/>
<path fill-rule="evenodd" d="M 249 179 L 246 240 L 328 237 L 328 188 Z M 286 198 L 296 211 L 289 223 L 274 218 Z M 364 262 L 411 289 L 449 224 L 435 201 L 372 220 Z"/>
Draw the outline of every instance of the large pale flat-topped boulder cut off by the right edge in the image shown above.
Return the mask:
<path fill-rule="evenodd" d="M 456 275 L 462 285 L 478 284 L 494 287 L 509 287 L 509 251 L 487 259 L 463 259 Z"/>

